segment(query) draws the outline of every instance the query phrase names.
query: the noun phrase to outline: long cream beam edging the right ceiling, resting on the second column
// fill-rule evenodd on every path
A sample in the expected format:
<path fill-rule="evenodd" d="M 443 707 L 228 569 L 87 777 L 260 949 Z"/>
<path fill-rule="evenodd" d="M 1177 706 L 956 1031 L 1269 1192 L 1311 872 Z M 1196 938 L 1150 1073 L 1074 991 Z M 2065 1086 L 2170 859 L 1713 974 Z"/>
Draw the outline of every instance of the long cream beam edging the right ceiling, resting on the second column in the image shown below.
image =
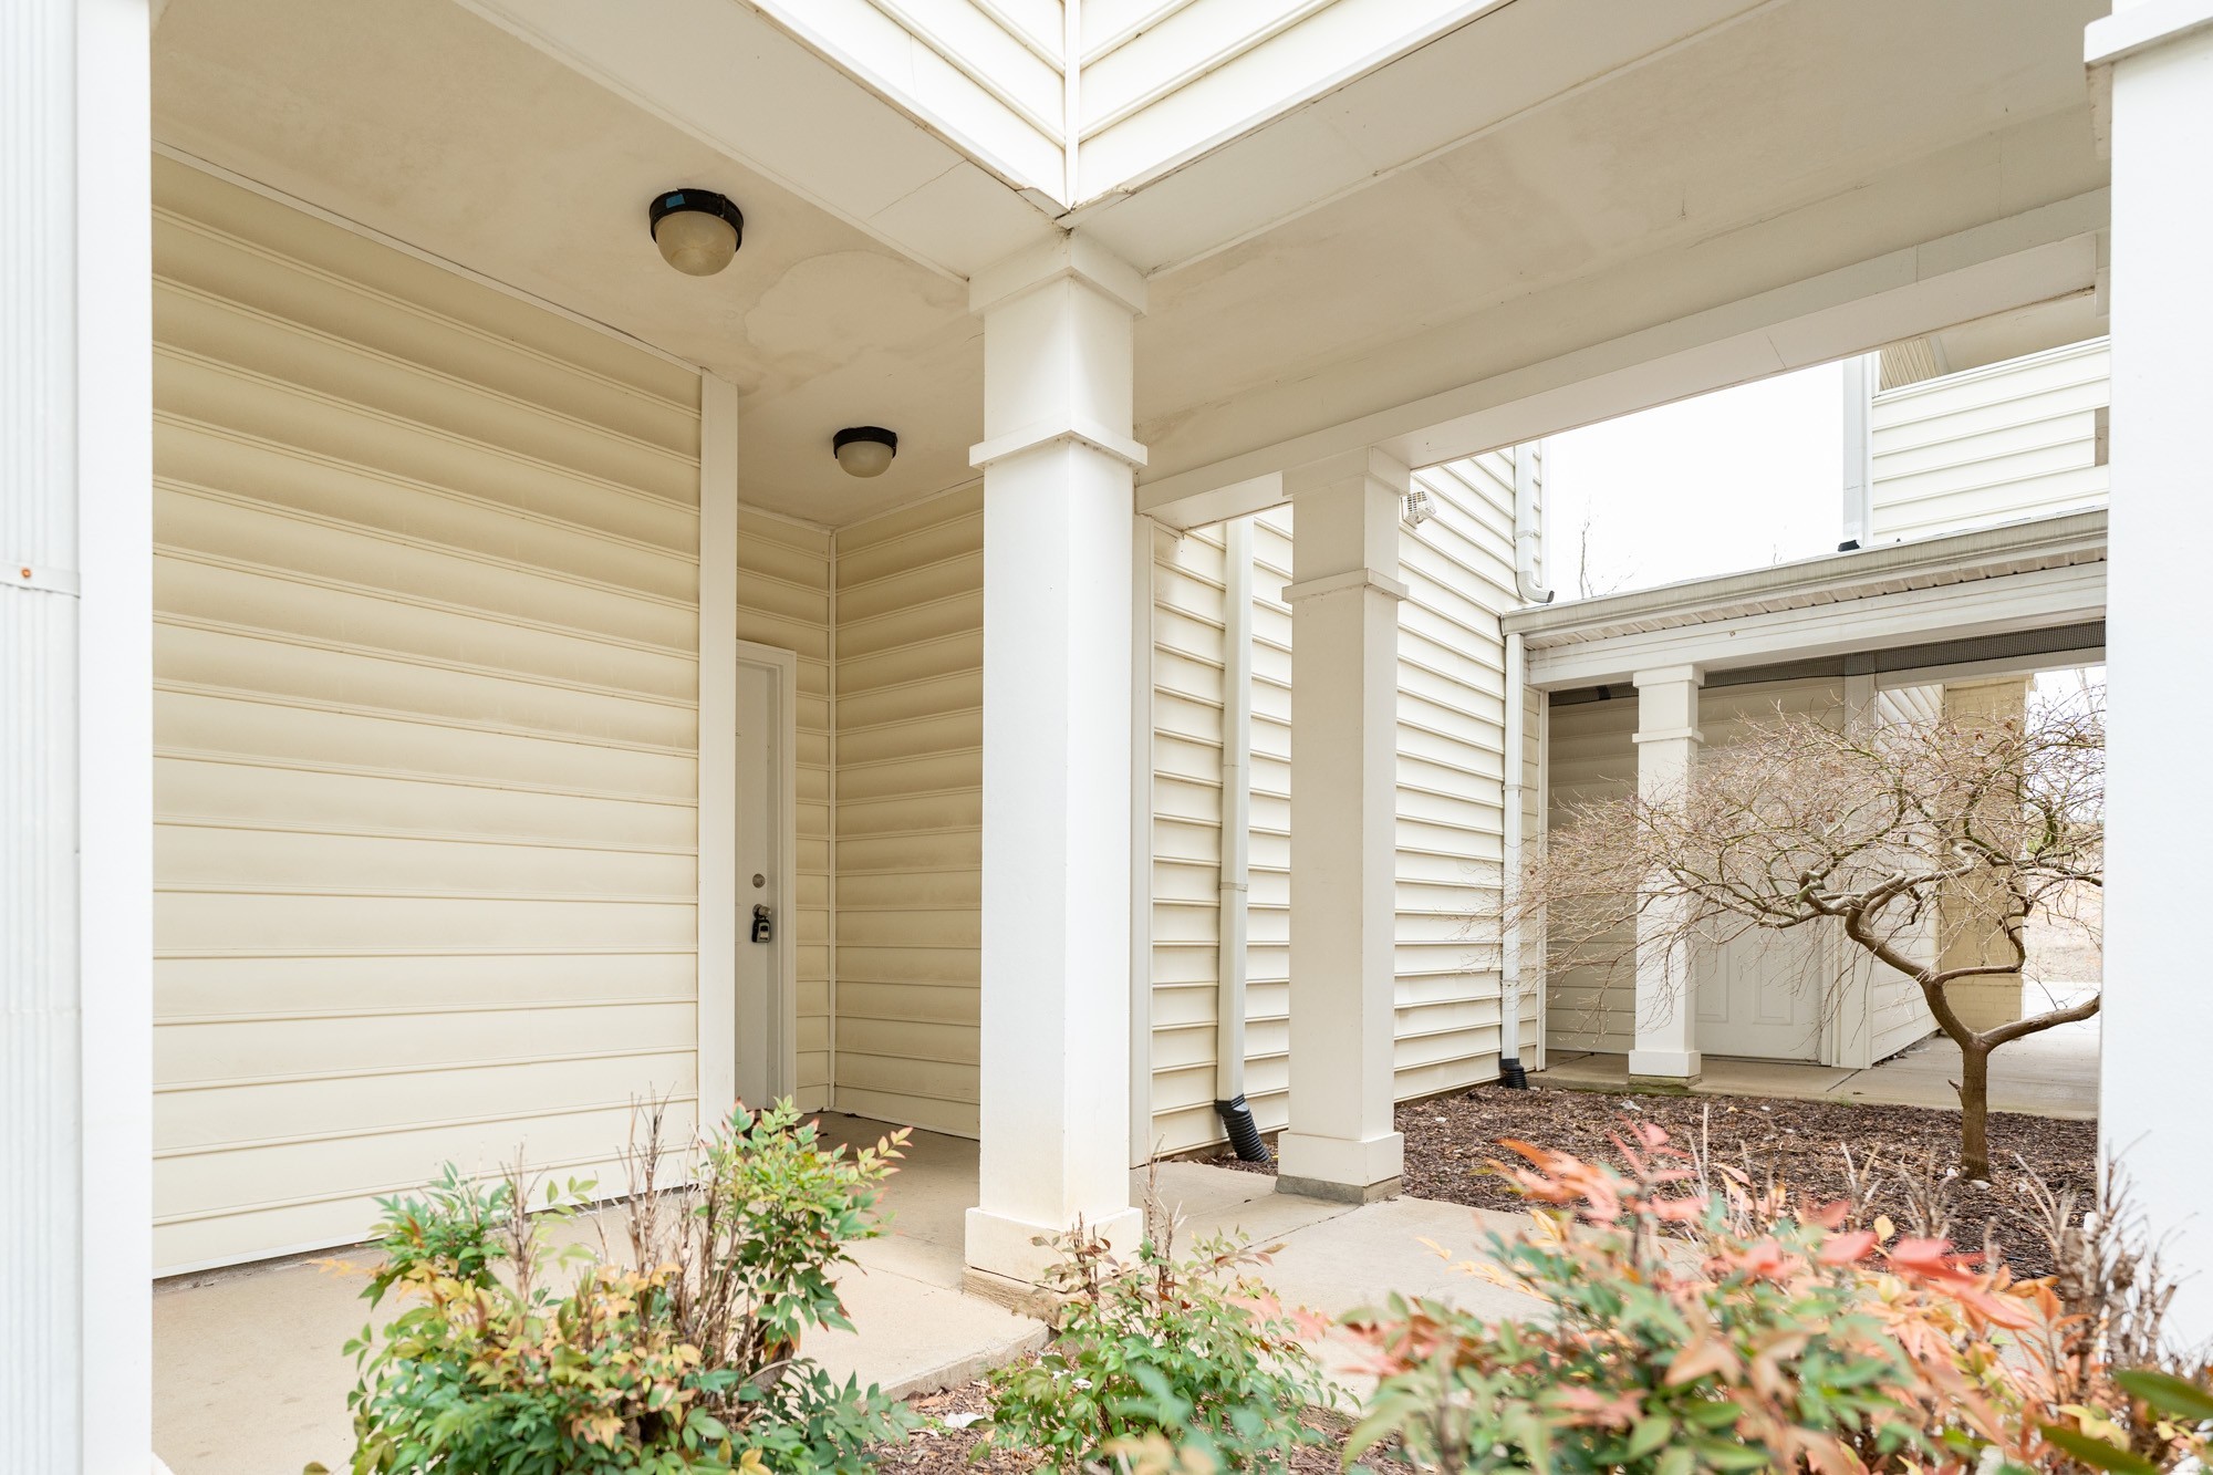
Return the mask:
<path fill-rule="evenodd" d="M 2107 217 L 2109 190 L 2089 190 L 1689 317 L 1624 330 L 1388 410 L 1321 421 L 1206 465 L 1173 470 L 1175 445 L 1144 436 L 1162 470 L 1140 481 L 1137 509 L 1180 523 L 1177 503 L 1186 498 L 1365 445 L 1385 447 L 1416 467 L 1458 461 L 2080 292 L 2096 286 L 2098 235 Z M 1487 334 L 1500 332 L 1500 317 L 1571 323 L 1593 297 L 1591 279 L 1562 283 L 1334 365 L 1290 392 L 1315 405 L 1319 421 L 1328 405 L 1352 396 L 1354 381 L 1414 381 L 1427 363 L 1478 352 Z M 1627 292 L 1618 297 L 1633 301 Z M 1264 399 L 1266 392 L 1246 394 L 1213 408 L 1213 414 L 1241 416 Z M 1281 423 L 1281 410 L 1268 414 Z M 1177 419 L 1188 425 L 1193 416 Z M 1228 439 L 1226 427 L 1217 434 Z"/>

